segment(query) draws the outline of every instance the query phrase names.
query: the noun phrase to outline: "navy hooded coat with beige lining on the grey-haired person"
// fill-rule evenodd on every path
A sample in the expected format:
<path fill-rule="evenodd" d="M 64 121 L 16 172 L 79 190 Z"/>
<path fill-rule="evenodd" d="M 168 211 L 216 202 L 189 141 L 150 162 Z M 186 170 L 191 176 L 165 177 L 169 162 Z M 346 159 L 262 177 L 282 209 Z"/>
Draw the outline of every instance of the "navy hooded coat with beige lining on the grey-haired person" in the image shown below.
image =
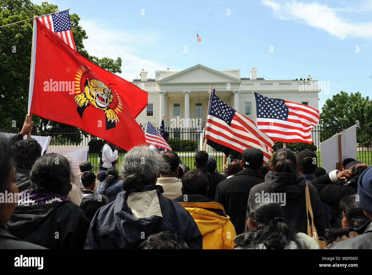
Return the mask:
<path fill-rule="evenodd" d="M 90 224 L 85 249 L 136 249 L 153 233 L 169 230 L 177 233 L 189 249 L 202 249 L 203 236 L 193 217 L 178 202 L 164 197 L 163 188 L 158 185 L 149 186 L 148 191 L 156 190 L 162 217 L 153 215 L 148 218 L 132 216 L 132 210 L 126 203 L 128 193 L 118 194 L 115 201 L 110 202 L 96 212 Z M 147 192 L 147 191 L 145 191 Z M 141 195 L 144 192 L 136 192 Z"/>

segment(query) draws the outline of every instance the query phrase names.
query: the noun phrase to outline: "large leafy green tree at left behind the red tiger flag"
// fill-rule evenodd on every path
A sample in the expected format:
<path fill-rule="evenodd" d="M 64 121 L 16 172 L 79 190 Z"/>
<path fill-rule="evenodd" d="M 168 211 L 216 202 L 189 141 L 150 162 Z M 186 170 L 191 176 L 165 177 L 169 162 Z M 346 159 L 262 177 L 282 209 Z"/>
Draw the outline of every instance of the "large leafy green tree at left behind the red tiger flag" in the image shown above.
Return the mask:
<path fill-rule="evenodd" d="M 48 2 L 36 5 L 30 0 L 0 0 L 0 24 L 7 25 L 32 18 L 34 15 L 56 11 L 58 6 Z M 70 14 L 77 52 L 112 73 L 121 73 L 120 57 L 116 61 L 107 57 L 97 58 L 84 49 L 83 40 L 88 36 L 79 26 L 79 20 L 80 17 L 76 13 Z M 27 113 L 32 27 L 33 20 L 29 20 L 0 29 L 0 131 L 17 132 L 22 127 Z M 38 116 L 33 116 L 32 119 L 35 123 L 33 132 L 36 130 L 39 133 L 47 133 L 56 132 L 56 128 L 60 127 L 71 128 Z"/>

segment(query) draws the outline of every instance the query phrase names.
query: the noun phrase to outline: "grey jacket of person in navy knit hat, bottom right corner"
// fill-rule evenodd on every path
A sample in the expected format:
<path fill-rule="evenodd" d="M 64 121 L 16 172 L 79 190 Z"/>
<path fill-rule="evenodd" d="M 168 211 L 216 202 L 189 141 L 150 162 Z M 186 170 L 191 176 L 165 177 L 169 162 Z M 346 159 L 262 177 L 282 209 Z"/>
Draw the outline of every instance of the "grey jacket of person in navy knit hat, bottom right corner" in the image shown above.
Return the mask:
<path fill-rule="evenodd" d="M 372 249 L 372 220 L 360 228 L 355 228 L 354 231 L 360 235 L 336 243 L 330 249 Z"/>

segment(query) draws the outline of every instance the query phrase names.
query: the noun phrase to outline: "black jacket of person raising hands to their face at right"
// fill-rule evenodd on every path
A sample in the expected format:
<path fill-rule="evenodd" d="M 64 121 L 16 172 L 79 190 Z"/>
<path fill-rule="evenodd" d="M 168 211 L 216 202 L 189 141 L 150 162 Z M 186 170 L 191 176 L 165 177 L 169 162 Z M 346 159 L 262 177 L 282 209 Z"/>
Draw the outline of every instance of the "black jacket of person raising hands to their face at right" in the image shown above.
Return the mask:
<path fill-rule="evenodd" d="M 359 176 L 357 175 L 350 179 L 350 183 L 346 185 L 344 182 L 333 183 L 329 174 L 325 174 L 316 178 L 312 182 L 312 185 L 317 189 L 322 202 L 331 207 L 338 208 L 339 202 L 343 197 L 357 192 Z"/>

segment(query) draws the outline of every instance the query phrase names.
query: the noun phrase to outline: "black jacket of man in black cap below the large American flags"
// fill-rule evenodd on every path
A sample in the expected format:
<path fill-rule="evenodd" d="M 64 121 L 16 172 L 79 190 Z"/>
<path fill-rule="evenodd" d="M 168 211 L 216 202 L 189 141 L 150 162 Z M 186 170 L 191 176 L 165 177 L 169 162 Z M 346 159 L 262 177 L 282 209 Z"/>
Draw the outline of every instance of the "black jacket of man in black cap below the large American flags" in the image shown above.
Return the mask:
<path fill-rule="evenodd" d="M 218 184 L 215 201 L 224 206 L 237 235 L 245 231 L 249 192 L 253 186 L 264 181 L 261 172 L 244 169 Z"/>

